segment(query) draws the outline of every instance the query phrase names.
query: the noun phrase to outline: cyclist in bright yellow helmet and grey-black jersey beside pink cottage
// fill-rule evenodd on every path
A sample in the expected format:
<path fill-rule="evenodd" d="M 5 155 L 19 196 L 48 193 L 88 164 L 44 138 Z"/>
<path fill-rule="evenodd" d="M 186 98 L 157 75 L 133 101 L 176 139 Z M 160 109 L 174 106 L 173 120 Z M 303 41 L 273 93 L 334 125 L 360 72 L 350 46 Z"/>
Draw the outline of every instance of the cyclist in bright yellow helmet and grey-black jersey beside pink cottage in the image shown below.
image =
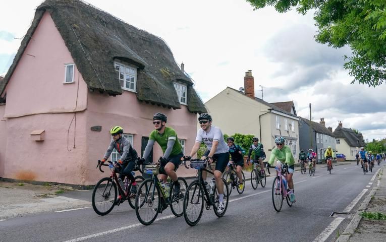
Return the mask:
<path fill-rule="evenodd" d="M 120 126 L 114 126 L 110 130 L 110 134 L 112 135 L 112 141 L 107 148 L 106 153 L 103 156 L 101 162 L 105 162 L 108 157 L 110 157 L 111 153 L 114 149 L 121 155 L 121 158 L 118 160 L 117 165 L 121 166 L 119 178 L 121 180 L 125 179 L 125 175 L 131 180 L 133 186 L 131 186 L 130 193 L 137 193 L 137 183 L 133 176 L 133 168 L 135 165 L 135 160 L 138 157 L 137 151 L 131 146 L 130 141 L 123 136 L 123 129 Z M 116 205 L 120 205 L 123 203 L 122 196 L 119 195 Z"/>

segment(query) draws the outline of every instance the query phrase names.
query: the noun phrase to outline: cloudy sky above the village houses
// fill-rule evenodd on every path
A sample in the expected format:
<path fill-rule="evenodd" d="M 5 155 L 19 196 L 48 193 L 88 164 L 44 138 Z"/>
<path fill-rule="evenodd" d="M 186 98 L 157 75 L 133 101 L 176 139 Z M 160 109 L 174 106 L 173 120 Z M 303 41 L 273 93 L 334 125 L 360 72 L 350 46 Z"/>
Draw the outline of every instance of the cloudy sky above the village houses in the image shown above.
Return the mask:
<path fill-rule="evenodd" d="M 0 0 L 0 75 L 12 64 L 41 0 Z M 244 0 L 133 1 L 88 3 L 164 39 L 177 63 L 185 64 L 203 101 L 227 86 L 238 89 L 252 70 L 255 96 L 267 102 L 295 101 L 300 116 L 324 117 L 335 129 L 361 131 L 365 139 L 386 137 L 386 85 L 350 84 L 343 69 L 349 48 L 318 44 L 312 13 L 253 11 Z M 220 85 L 218 85 L 220 83 Z M 382 95 L 383 94 L 383 95 Z"/>

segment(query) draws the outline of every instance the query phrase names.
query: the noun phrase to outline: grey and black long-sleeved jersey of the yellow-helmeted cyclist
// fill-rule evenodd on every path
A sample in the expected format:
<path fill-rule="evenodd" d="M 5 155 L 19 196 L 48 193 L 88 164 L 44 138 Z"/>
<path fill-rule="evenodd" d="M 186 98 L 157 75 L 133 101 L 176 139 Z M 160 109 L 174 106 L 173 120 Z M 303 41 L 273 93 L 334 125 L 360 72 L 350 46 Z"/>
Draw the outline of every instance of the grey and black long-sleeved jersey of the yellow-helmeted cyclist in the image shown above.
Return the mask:
<path fill-rule="evenodd" d="M 116 149 L 117 152 L 121 155 L 121 160 L 124 163 L 127 163 L 137 158 L 137 151 L 133 149 L 130 144 L 130 141 L 123 136 L 117 141 L 112 139 L 103 158 L 107 160 L 107 158 L 111 155 L 114 149 Z"/>

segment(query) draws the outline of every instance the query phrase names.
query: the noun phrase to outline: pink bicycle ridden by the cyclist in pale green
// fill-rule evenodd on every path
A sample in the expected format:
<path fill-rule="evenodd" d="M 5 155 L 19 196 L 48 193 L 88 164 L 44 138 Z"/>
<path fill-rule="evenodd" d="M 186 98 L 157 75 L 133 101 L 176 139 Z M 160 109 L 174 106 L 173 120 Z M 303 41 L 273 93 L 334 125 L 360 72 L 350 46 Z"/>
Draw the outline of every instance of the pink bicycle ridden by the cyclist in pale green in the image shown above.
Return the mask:
<path fill-rule="evenodd" d="M 267 164 L 267 170 L 274 168 L 276 170 L 276 177 L 273 179 L 272 184 L 272 203 L 273 208 L 280 212 L 283 206 L 283 200 L 286 199 L 288 206 L 292 207 L 293 203 L 290 200 L 289 189 L 287 189 L 287 173 L 288 165 L 278 162 L 278 166 L 270 166 Z"/>

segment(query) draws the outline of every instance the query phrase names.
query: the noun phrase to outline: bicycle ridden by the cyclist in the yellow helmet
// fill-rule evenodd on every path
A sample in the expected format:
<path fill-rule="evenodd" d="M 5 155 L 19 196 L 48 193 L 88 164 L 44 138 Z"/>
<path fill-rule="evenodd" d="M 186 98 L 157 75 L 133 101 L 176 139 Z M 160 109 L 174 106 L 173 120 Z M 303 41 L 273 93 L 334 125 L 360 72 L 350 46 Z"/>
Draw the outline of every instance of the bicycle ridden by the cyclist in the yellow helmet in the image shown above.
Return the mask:
<path fill-rule="evenodd" d="M 98 215 L 101 216 L 108 214 L 113 210 L 115 205 L 119 205 L 126 200 L 129 202 L 130 207 L 132 207 L 133 209 L 135 208 L 134 200 L 136 195 L 130 193 L 132 188 L 131 180 L 129 180 L 126 175 L 125 180 L 123 182 L 124 186 L 122 187 L 117 176 L 117 171 L 119 170 L 117 162 L 113 163 L 109 160 L 107 160 L 107 162 L 108 164 L 104 164 L 100 160 L 98 160 L 98 165 L 96 166 L 96 168 L 99 167 L 99 170 L 101 172 L 104 172 L 101 169 L 101 166 L 108 166 L 112 173 L 109 177 L 103 177 L 98 181 L 98 183 L 94 187 L 94 190 L 92 191 L 91 198 L 92 208 Z M 139 168 L 137 162 L 138 159 L 135 161 L 133 170 L 139 170 L 141 172 L 141 169 Z M 139 184 L 144 180 L 144 178 L 141 175 L 137 175 L 134 178 L 137 182 L 138 189 Z M 122 197 L 122 200 L 119 201 L 119 204 L 117 204 L 117 192 Z M 100 198 L 97 198 L 98 196 L 100 196 Z"/>

